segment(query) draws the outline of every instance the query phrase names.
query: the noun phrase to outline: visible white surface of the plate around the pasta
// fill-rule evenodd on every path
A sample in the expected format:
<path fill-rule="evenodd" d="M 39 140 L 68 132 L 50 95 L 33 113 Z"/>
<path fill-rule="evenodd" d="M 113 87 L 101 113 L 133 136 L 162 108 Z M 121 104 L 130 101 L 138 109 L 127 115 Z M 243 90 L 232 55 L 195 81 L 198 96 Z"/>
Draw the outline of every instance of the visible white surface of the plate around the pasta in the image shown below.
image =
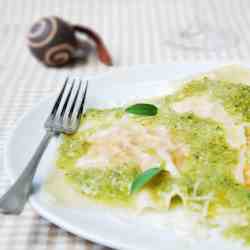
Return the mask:
<path fill-rule="evenodd" d="M 134 98 L 163 94 L 170 87 L 170 80 L 185 78 L 218 67 L 218 64 L 166 64 L 145 65 L 116 69 L 99 77 L 92 77 L 88 91 L 88 106 L 108 107 L 131 101 Z M 86 78 L 86 77 L 84 77 Z M 54 96 L 44 100 L 26 114 L 13 130 L 5 150 L 5 166 L 14 180 L 44 134 L 43 122 L 49 113 Z M 121 219 L 118 212 L 92 206 L 64 207 L 50 202 L 42 185 L 53 167 L 57 146 L 53 140 L 44 154 L 35 177 L 35 189 L 31 205 L 52 223 L 86 239 L 109 247 L 130 250 L 165 249 L 241 249 L 238 243 L 225 241 L 219 236 L 193 241 L 177 234 L 172 227 L 154 225 L 148 217 L 137 219 L 135 215 Z"/>

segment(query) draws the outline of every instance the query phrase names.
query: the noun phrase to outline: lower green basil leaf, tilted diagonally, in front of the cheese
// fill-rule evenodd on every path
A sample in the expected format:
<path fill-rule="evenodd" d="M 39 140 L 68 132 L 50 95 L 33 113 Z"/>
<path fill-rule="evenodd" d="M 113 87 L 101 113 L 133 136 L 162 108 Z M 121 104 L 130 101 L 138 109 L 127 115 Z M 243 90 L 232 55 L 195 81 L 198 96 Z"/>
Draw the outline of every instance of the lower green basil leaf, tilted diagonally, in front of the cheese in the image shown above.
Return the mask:
<path fill-rule="evenodd" d="M 138 192 L 146 183 L 152 180 L 153 177 L 158 175 L 163 170 L 164 169 L 162 167 L 155 167 L 155 168 L 150 168 L 145 172 L 143 172 L 142 174 L 138 175 L 132 183 L 130 193 Z"/>

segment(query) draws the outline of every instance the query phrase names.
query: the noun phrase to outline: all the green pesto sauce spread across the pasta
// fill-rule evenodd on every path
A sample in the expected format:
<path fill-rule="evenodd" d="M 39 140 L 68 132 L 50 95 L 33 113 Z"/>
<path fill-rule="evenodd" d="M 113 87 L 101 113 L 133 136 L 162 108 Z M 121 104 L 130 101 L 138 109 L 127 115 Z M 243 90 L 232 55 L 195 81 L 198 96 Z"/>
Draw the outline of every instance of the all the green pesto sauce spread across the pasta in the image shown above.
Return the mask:
<path fill-rule="evenodd" d="M 175 113 L 171 108 L 174 102 L 206 93 L 212 100 L 219 101 L 230 115 L 239 118 L 241 122 L 250 121 L 250 87 L 215 82 L 207 78 L 191 81 L 175 94 L 162 99 L 156 116 L 131 116 L 129 119 L 133 122 L 148 128 L 166 126 L 174 140 L 189 147 L 189 155 L 184 161 L 179 178 L 175 179 L 163 173 L 145 188 L 161 206 L 162 197 L 171 191 L 173 185 L 177 185 L 189 197 L 199 181 L 196 194 L 213 195 L 208 207 L 209 218 L 216 216 L 221 208 L 235 209 L 243 213 L 249 224 L 245 227 L 232 225 L 225 234 L 250 243 L 250 192 L 238 184 L 233 176 L 233 170 L 238 164 L 239 151 L 227 143 L 225 129 L 219 122 L 198 117 L 193 113 Z M 123 115 L 124 110 L 121 108 L 89 110 L 81 122 L 83 126 L 91 123 L 91 128 L 75 135 L 64 136 L 57 158 L 57 167 L 64 171 L 66 179 L 79 192 L 97 201 L 115 205 L 133 203 L 135 196 L 131 196 L 129 190 L 133 180 L 140 174 L 139 166 L 131 163 L 84 170 L 76 168 L 75 163 L 91 147 L 87 137 L 99 129 L 111 126 Z M 155 154 L 155 149 L 150 148 L 147 153 Z M 193 203 L 195 201 L 190 201 L 188 205 L 192 207 Z"/>

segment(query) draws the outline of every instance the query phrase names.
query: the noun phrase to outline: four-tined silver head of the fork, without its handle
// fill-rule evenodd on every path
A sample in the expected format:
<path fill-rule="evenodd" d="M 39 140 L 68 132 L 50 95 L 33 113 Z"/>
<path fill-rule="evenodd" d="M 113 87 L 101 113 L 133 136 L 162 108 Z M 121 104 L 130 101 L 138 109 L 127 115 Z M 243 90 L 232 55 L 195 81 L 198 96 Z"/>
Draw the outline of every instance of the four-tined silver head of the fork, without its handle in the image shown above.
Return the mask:
<path fill-rule="evenodd" d="M 84 111 L 88 81 L 66 78 L 45 127 L 53 132 L 74 133 Z"/>

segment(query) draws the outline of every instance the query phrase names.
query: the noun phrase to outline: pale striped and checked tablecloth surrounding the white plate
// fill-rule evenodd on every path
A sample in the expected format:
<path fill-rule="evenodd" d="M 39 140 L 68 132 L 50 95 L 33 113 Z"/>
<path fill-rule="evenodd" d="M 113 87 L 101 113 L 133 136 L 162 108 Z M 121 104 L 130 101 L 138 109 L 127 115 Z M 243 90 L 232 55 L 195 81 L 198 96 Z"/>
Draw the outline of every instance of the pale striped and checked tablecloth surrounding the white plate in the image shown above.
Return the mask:
<path fill-rule="evenodd" d="M 197 1 L 198 2 L 198 1 Z M 9 185 L 3 149 L 17 119 L 39 100 L 60 88 L 59 75 L 96 74 L 110 68 L 90 58 L 87 65 L 48 69 L 31 57 L 26 46 L 30 24 L 57 15 L 98 31 L 110 49 L 115 67 L 136 64 L 199 61 L 247 61 L 250 55 L 250 1 L 199 1 L 210 27 L 234 32 L 238 41 L 228 49 L 181 49 L 167 41 L 194 20 L 191 0 L 8 0 L 0 2 L 0 194 Z M 196 20 L 197 21 L 197 20 Z M 20 149 L 21 150 L 21 149 Z M 27 205 L 19 217 L 0 215 L 0 248 L 108 249 L 50 224 Z"/>

